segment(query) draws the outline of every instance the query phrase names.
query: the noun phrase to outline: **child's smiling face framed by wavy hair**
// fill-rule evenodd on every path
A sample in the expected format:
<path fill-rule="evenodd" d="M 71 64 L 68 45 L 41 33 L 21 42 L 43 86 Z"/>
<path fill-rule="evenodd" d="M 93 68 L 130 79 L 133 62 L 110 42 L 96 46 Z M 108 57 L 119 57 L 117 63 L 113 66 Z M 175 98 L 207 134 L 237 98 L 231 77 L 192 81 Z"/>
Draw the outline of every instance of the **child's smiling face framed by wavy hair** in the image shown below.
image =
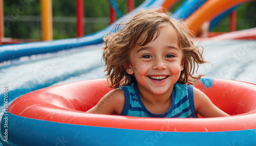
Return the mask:
<path fill-rule="evenodd" d="M 131 50 L 130 60 L 126 72 L 135 75 L 140 91 L 146 90 L 154 94 L 171 92 L 180 78 L 184 63 L 174 28 L 164 26 L 154 41 L 144 46 L 136 44 Z"/>

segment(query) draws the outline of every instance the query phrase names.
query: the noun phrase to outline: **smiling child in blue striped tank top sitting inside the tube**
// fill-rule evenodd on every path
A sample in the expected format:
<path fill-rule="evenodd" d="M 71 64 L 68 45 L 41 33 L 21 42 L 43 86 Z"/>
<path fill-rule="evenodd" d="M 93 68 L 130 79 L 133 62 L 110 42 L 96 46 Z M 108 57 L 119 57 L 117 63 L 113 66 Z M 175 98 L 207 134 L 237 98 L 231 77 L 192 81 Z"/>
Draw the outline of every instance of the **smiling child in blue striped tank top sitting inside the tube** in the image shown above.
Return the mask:
<path fill-rule="evenodd" d="M 103 60 L 108 86 L 88 113 L 141 117 L 228 116 L 199 89 L 203 47 L 163 8 L 143 10 L 106 35 Z"/>

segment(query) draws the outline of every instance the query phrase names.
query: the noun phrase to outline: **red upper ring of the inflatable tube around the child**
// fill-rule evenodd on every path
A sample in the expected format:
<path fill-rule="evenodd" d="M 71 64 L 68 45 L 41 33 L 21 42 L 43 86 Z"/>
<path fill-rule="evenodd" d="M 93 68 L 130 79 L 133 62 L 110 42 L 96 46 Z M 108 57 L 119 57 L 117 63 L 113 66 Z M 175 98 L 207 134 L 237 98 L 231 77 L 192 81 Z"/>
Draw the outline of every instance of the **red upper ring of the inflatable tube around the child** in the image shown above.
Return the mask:
<path fill-rule="evenodd" d="M 101 97 L 112 90 L 105 79 L 89 80 L 30 92 L 8 108 L 14 115 L 76 125 L 173 132 L 218 132 L 256 129 L 256 85 L 239 81 L 207 79 L 195 87 L 230 117 L 147 118 L 90 114 Z M 168 128 L 164 128 L 168 127 Z"/>

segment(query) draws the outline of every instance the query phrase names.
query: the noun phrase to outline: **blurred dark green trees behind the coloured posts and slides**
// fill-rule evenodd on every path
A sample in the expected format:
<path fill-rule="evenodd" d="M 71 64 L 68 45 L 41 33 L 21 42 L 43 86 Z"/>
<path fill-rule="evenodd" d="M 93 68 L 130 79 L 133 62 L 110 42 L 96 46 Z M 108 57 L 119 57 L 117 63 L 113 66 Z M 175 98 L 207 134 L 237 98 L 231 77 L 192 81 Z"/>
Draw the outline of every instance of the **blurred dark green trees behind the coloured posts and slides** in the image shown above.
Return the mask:
<path fill-rule="evenodd" d="M 181 0 L 175 4 L 170 12 L 184 2 Z M 27 3 L 26 3 L 27 2 Z M 29 2 L 29 3 L 28 3 Z M 127 11 L 126 0 L 117 0 L 117 4 L 123 14 Z M 134 1 L 134 8 L 142 4 L 144 0 Z M 24 3 L 24 4 L 23 4 Z M 26 5 L 25 5 L 26 4 Z M 23 9 L 19 7 L 24 6 Z M 109 26 L 109 4 L 107 0 L 84 1 L 84 35 L 97 32 Z M 24 8 L 26 10 L 24 10 Z M 237 30 L 256 27 L 256 1 L 242 4 L 237 9 Z M 76 18 L 75 1 L 53 0 L 53 39 L 75 38 Z M 6 38 L 41 39 L 41 19 L 39 0 L 5 0 L 4 19 Z M 229 32 L 229 16 L 224 18 L 211 32 Z"/>

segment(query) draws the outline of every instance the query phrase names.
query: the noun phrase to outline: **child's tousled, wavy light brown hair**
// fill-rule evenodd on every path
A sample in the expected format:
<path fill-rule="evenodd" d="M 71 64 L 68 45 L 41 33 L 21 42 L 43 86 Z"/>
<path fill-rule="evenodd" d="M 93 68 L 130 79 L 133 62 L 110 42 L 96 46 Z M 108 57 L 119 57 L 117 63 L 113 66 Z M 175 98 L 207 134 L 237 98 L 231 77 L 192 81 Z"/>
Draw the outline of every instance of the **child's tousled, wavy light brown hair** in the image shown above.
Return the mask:
<path fill-rule="evenodd" d="M 107 86 L 118 88 L 120 84 L 131 84 L 135 77 L 127 74 L 125 68 L 130 63 L 130 51 L 136 43 L 140 46 L 154 41 L 163 26 L 171 25 L 178 36 L 179 47 L 183 52 L 184 69 L 181 71 L 178 83 L 195 84 L 203 75 L 194 75 L 199 64 L 206 63 L 203 59 L 203 47 L 194 45 L 189 31 L 184 28 L 179 20 L 170 18 L 172 14 L 163 8 L 142 10 L 134 17 L 127 18 L 115 26 L 119 32 L 108 33 L 104 37 L 105 47 L 103 47 L 102 59 L 105 61 Z M 142 35 L 143 34 L 143 35 Z M 144 35 L 145 34 L 145 35 Z M 143 41 L 137 40 L 143 36 Z M 110 83 L 109 83 L 110 82 Z"/>

